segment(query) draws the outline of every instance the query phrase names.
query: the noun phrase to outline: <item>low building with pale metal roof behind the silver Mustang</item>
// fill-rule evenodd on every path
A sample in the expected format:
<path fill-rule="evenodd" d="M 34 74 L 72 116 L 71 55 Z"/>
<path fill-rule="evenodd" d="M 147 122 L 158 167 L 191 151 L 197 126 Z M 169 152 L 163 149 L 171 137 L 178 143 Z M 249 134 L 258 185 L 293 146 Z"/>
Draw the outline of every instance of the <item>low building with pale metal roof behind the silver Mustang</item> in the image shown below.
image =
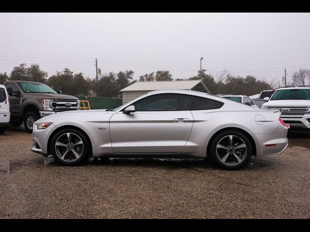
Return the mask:
<path fill-rule="evenodd" d="M 123 104 L 135 98 L 140 97 L 153 90 L 160 89 L 187 89 L 210 93 L 207 87 L 201 80 L 186 80 L 186 81 L 141 81 L 136 82 L 121 90 L 123 92 Z"/>

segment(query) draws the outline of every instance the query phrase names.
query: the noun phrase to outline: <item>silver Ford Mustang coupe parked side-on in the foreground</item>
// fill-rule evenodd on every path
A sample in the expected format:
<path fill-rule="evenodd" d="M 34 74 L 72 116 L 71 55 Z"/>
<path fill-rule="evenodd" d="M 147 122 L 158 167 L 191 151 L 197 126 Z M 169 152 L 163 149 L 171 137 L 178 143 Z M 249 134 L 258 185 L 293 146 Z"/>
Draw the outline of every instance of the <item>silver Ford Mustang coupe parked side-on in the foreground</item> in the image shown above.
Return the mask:
<path fill-rule="evenodd" d="M 65 165 L 90 156 L 206 158 L 235 170 L 251 156 L 280 154 L 288 129 L 263 111 L 190 90 L 149 92 L 116 109 L 62 112 L 34 123 L 33 152 Z"/>

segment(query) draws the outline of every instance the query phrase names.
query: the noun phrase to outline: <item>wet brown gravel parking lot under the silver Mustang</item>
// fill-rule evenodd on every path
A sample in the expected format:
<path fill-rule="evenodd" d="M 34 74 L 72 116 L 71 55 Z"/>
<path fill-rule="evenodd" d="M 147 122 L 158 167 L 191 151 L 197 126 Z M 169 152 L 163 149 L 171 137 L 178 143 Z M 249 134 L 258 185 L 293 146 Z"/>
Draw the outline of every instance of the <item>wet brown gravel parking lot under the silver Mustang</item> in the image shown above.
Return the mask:
<path fill-rule="evenodd" d="M 310 218 L 310 136 L 239 171 L 208 160 L 44 164 L 22 127 L 0 135 L 0 218 Z"/>

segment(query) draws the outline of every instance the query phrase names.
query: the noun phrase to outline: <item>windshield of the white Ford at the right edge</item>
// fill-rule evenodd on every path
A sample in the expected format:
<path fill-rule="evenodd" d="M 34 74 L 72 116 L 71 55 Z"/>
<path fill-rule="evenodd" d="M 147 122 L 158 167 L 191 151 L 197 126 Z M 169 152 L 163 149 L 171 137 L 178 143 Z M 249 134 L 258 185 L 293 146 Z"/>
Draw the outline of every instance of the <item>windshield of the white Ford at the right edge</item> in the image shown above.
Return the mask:
<path fill-rule="evenodd" d="M 310 100 L 310 89 L 277 90 L 270 100 Z"/>

